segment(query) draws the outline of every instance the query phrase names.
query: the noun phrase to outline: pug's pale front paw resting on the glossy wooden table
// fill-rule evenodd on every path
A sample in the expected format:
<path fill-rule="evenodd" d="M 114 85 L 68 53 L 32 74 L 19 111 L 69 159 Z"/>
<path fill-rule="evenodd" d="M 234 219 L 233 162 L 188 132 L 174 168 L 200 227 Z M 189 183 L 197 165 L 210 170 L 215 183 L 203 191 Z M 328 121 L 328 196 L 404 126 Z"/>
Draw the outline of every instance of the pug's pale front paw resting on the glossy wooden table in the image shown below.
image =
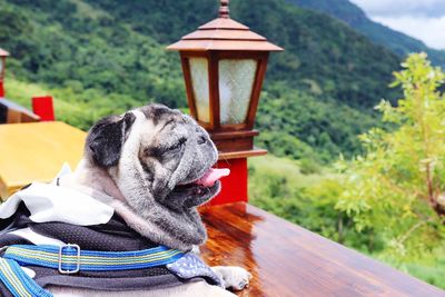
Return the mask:
<path fill-rule="evenodd" d="M 249 286 L 251 274 L 236 266 L 214 266 L 214 271 L 222 279 L 226 289 L 241 290 Z"/>

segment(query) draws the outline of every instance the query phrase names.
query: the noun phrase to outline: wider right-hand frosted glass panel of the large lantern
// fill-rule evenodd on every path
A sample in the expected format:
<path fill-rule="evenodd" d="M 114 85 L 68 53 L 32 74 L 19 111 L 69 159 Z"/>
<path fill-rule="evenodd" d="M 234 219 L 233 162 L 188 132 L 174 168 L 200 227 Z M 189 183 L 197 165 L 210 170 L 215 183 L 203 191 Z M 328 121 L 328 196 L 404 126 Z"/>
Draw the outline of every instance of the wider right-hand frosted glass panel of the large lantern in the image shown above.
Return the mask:
<path fill-rule="evenodd" d="M 254 59 L 222 59 L 219 61 L 221 125 L 246 121 L 257 67 L 258 62 Z"/>

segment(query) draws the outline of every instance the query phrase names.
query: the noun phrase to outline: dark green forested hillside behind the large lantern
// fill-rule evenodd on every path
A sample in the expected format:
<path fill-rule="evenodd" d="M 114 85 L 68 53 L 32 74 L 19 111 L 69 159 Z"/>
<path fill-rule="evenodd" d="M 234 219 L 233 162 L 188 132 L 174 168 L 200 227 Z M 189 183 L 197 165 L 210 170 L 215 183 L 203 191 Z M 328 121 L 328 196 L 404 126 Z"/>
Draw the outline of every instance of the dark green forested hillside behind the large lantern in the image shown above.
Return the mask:
<path fill-rule="evenodd" d="M 376 122 L 372 108 L 397 96 L 387 85 L 399 58 L 344 22 L 284 0 L 234 0 L 230 8 L 286 48 L 271 57 L 259 145 L 318 161 L 356 152 L 356 135 Z M 214 0 L 0 0 L 0 23 L 8 24 L 0 47 L 13 57 L 9 76 L 82 106 L 85 119 L 69 121 L 86 129 L 148 101 L 186 107 L 177 53 L 165 47 L 216 12 Z"/>

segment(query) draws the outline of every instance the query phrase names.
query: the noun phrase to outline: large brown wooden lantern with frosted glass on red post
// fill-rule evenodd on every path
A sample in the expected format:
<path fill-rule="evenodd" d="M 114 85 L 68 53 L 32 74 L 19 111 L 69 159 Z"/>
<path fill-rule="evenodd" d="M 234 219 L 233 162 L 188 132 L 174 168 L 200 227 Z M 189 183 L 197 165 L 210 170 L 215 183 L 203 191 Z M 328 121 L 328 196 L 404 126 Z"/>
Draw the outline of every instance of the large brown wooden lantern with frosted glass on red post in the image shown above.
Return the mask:
<path fill-rule="evenodd" d="M 219 18 L 168 50 L 178 50 L 191 116 L 219 150 L 218 167 L 231 169 L 215 204 L 247 201 L 247 158 L 267 154 L 254 147 L 259 96 L 271 51 L 283 51 L 229 17 L 220 0 Z"/>

